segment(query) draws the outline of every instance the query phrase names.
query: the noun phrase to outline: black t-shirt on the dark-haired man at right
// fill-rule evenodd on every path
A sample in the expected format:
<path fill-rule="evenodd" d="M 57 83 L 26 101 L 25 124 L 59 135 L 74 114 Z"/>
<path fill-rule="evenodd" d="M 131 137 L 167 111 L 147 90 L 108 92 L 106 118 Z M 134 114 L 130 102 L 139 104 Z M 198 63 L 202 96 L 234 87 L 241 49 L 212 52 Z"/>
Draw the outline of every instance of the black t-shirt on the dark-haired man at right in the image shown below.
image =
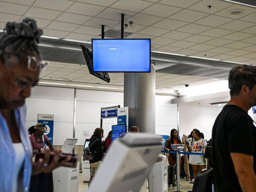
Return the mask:
<path fill-rule="evenodd" d="M 256 127 L 253 120 L 238 106 L 226 105 L 213 125 L 212 142 L 214 191 L 242 191 L 230 153 L 254 156 L 256 173 Z"/>

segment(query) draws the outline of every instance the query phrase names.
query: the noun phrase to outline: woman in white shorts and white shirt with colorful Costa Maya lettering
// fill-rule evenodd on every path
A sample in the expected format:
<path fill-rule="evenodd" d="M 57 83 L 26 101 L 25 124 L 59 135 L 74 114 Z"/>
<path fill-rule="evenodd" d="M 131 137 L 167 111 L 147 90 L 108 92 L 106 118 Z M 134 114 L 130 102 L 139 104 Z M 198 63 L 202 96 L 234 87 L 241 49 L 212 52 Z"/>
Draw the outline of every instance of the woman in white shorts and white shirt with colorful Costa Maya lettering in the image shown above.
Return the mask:
<path fill-rule="evenodd" d="M 205 139 L 200 137 L 200 131 L 193 129 L 191 143 L 186 142 L 187 149 L 192 153 L 203 153 L 204 148 L 207 145 Z M 196 178 L 198 171 L 202 172 L 202 169 L 205 168 L 204 157 L 202 155 L 189 155 L 189 164 L 191 164 L 194 172 L 194 178 Z"/>

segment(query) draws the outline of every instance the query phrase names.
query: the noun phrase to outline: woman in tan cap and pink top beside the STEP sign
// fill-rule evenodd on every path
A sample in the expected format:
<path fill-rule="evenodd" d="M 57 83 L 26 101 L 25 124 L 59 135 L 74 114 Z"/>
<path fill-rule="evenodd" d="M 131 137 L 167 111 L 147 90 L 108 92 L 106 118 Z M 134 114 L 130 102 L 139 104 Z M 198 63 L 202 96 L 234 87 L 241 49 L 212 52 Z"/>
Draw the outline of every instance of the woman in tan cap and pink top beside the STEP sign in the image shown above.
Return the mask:
<path fill-rule="evenodd" d="M 41 150 L 44 148 L 44 142 L 51 151 L 54 151 L 52 144 L 50 143 L 48 137 L 44 135 L 46 127 L 42 123 L 36 123 L 34 126 L 28 128 L 29 139 L 33 148 L 35 150 Z M 29 192 L 53 192 L 53 180 L 52 172 L 46 173 L 42 172 L 37 175 L 33 175 L 30 181 Z"/>

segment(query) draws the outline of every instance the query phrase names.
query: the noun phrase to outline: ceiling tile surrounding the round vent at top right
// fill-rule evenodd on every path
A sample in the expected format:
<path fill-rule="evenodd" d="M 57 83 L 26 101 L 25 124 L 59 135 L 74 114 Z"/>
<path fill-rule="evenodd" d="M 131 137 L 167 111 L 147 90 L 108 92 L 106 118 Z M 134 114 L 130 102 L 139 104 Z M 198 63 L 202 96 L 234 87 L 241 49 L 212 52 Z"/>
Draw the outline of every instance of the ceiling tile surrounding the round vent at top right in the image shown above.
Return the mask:
<path fill-rule="evenodd" d="M 245 13 L 240 14 L 240 15 L 239 14 L 229 14 L 228 13 L 228 11 L 235 10 L 235 9 L 243 9 L 243 10 L 245 10 Z M 247 6 L 242 6 L 242 5 L 235 4 L 235 5 L 232 5 L 231 7 L 228 7 L 226 9 L 223 9 L 223 10 L 215 13 L 215 15 L 219 15 L 219 16 L 223 16 L 223 17 L 229 17 L 229 18 L 232 18 L 232 19 L 238 19 L 238 18 L 244 17 L 244 16 L 249 15 L 249 14 L 254 13 L 254 12 L 255 12 L 254 8 L 250 8 L 250 7 L 247 7 Z"/>

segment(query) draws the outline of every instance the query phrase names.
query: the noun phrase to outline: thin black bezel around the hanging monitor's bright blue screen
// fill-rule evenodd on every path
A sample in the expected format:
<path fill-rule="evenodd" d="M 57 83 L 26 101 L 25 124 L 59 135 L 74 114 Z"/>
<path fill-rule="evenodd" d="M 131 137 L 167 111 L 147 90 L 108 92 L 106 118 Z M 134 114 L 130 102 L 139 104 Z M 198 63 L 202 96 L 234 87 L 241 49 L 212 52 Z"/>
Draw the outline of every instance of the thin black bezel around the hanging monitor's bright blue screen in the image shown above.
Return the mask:
<path fill-rule="evenodd" d="M 103 72 L 103 71 L 94 71 L 93 68 L 93 40 L 149 40 L 149 72 L 137 72 L 137 71 L 128 71 L 128 72 L 122 72 L 122 71 L 107 71 L 111 73 L 150 73 L 151 72 L 151 39 L 150 38 L 140 38 L 140 39 L 91 39 L 91 50 L 92 50 L 92 71 L 93 72 Z"/>

